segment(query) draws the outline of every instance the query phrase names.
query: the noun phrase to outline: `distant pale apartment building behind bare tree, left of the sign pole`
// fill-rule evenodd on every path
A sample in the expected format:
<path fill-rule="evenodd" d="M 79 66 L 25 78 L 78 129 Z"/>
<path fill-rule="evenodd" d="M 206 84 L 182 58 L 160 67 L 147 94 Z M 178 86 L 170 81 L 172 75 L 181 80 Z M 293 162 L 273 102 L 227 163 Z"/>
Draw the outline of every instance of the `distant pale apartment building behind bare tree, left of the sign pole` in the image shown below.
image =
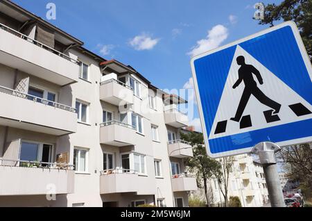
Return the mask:
<path fill-rule="evenodd" d="M 224 203 L 216 180 L 211 180 L 213 201 L 216 206 Z M 228 197 L 237 196 L 243 207 L 260 207 L 268 203 L 268 187 L 261 165 L 249 154 L 234 156 L 229 174 Z"/>

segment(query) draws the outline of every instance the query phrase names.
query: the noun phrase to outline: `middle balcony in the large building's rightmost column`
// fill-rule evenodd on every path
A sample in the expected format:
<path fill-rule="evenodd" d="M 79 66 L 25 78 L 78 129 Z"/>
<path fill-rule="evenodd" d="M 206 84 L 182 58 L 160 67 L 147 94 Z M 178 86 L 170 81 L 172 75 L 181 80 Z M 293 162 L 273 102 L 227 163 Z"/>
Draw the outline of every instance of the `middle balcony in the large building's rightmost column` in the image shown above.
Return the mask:
<path fill-rule="evenodd" d="M 193 150 L 189 142 L 173 140 L 168 142 L 168 154 L 177 158 L 193 157 Z"/>

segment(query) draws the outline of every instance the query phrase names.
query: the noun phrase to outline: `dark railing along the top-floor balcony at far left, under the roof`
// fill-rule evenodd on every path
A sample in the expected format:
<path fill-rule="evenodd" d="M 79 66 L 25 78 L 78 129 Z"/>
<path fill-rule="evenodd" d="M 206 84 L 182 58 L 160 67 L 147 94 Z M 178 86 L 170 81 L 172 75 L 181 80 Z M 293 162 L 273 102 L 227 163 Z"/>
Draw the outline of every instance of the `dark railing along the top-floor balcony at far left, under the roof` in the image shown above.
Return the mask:
<path fill-rule="evenodd" d="M 23 39 L 23 40 L 26 40 L 27 42 L 30 42 L 30 43 L 33 43 L 35 45 L 37 45 L 37 47 L 41 47 L 42 49 L 46 49 L 47 51 L 51 51 L 53 54 L 56 54 L 66 60 L 69 60 L 71 61 L 72 63 L 75 63 L 75 64 L 79 64 L 79 61 L 76 60 L 76 59 L 73 59 L 69 56 L 67 56 L 66 54 L 63 54 L 62 52 L 60 51 L 57 51 L 51 47 L 49 47 L 48 45 L 46 44 L 42 44 L 41 42 L 38 42 L 37 40 L 33 39 L 33 38 L 29 38 L 27 35 L 24 35 L 23 33 L 20 33 L 18 31 L 15 31 L 14 29 L 4 25 L 4 24 L 1 24 L 0 23 L 0 28 L 3 29 L 4 31 L 8 31 L 8 33 L 12 33 L 13 35 Z"/>

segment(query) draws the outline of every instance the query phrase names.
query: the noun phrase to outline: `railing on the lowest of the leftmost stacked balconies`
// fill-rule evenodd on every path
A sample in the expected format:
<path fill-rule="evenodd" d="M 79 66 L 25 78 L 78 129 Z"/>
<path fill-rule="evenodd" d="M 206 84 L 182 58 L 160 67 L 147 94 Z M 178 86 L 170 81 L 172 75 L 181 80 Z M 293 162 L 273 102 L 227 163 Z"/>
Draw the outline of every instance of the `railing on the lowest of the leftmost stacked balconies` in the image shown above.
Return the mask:
<path fill-rule="evenodd" d="M 74 166 L 67 163 L 48 163 L 38 161 L 20 161 L 0 158 L 0 166 L 48 168 L 55 170 L 73 170 Z"/>

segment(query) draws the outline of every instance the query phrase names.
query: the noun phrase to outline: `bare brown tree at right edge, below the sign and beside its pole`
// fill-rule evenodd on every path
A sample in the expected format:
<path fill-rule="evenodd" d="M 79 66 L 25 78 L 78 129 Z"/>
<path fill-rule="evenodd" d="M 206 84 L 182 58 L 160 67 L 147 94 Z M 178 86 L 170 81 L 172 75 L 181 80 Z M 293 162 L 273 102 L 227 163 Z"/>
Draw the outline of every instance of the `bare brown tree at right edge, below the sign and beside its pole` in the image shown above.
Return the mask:
<path fill-rule="evenodd" d="M 300 181 L 306 197 L 312 196 L 312 148 L 309 144 L 282 147 L 277 153 L 279 163 L 284 164 L 286 174 Z"/>

